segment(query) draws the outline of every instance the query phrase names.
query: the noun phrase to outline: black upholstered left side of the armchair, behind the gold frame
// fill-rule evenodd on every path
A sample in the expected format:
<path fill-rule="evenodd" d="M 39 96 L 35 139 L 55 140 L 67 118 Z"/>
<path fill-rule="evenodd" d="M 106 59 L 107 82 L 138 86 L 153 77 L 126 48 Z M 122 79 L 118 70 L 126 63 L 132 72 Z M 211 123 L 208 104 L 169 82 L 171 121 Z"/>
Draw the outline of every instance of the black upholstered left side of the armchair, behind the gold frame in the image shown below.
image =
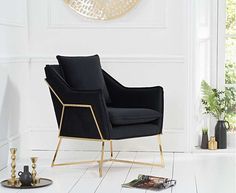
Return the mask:
<path fill-rule="evenodd" d="M 102 91 L 78 91 L 72 89 L 66 81 L 63 80 L 58 65 L 47 65 L 45 67 L 45 73 L 46 81 L 64 104 L 88 104 L 92 106 L 103 137 L 110 139 L 111 124 Z M 50 93 L 59 127 L 62 105 L 55 97 L 55 94 L 52 91 L 50 91 Z M 88 111 L 87 108 L 66 107 L 60 135 L 100 139 L 92 113 Z"/>

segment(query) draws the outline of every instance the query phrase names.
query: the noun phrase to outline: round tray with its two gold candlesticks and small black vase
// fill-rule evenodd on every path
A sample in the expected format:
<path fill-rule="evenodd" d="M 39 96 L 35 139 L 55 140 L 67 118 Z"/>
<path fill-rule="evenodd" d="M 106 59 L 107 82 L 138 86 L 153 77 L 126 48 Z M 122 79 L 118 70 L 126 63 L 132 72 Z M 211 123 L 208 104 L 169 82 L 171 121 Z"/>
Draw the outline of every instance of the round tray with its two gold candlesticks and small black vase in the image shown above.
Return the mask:
<path fill-rule="evenodd" d="M 1 185 L 7 188 L 18 188 L 18 189 L 29 189 L 29 188 L 40 188 L 49 186 L 52 184 L 52 180 L 47 178 L 36 178 L 36 161 L 37 157 L 31 157 L 32 161 L 32 173 L 29 172 L 29 166 L 25 165 L 24 170 L 19 171 L 19 178 L 16 178 L 16 148 L 11 148 L 11 178 L 3 180 Z"/>

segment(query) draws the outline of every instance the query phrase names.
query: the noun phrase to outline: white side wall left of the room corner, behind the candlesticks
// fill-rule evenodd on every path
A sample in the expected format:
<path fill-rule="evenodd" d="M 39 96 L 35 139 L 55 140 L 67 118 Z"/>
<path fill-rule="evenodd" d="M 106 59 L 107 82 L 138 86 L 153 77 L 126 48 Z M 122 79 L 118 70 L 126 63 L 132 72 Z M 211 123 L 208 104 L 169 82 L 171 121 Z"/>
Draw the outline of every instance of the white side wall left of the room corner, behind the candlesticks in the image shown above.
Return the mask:
<path fill-rule="evenodd" d="M 27 1 L 0 0 L 0 169 L 27 129 Z M 22 146 L 21 146 L 22 147 Z"/>

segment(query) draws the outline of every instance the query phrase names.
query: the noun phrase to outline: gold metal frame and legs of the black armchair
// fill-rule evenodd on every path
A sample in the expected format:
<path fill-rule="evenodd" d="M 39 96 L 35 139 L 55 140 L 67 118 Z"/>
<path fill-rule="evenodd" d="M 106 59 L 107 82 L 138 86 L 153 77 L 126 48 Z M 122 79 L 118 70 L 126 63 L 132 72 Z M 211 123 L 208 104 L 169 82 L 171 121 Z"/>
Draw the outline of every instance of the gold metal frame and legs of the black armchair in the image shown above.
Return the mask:
<path fill-rule="evenodd" d="M 47 82 L 47 81 L 46 81 Z M 112 140 L 107 140 L 104 139 L 100 130 L 100 127 L 98 125 L 95 113 L 93 111 L 93 108 L 91 105 L 88 104 L 65 104 L 62 102 L 60 97 L 56 94 L 56 92 L 53 90 L 53 88 L 50 86 L 50 84 L 47 82 L 49 89 L 53 92 L 53 94 L 56 96 L 56 98 L 60 101 L 62 105 L 62 112 L 61 112 L 61 118 L 60 118 L 60 124 L 59 124 L 59 141 L 56 147 L 55 154 L 53 156 L 52 164 L 51 167 L 53 166 L 65 166 L 65 165 L 77 165 L 77 164 L 83 164 L 83 163 L 93 163 L 93 162 L 98 162 L 99 164 L 99 176 L 102 176 L 102 168 L 103 168 L 103 163 L 112 161 L 112 162 L 122 162 L 122 163 L 132 163 L 132 164 L 140 164 L 140 165 L 147 165 L 147 166 L 158 166 L 158 167 L 164 167 L 164 157 L 163 157 L 163 151 L 162 151 L 162 143 L 161 143 L 161 136 L 160 134 L 157 135 L 157 141 L 158 141 L 158 146 L 160 150 L 160 162 L 159 163 L 149 163 L 149 162 L 137 162 L 137 161 L 130 161 L 130 160 L 121 160 L 121 159 L 116 159 L 113 158 L 113 148 L 112 148 Z M 99 133 L 100 139 L 90 139 L 90 138 L 78 138 L 78 137 L 66 137 L 66 136 L 61 136 L 60 131 L 61 131 L 61 126 L 63 122 L 63 117 L 64 117 L 64 111 L 65 108 L 70 108 L 70 107 L 76 107 L 76 108 L 89 108 L 90 112 L 92 114 L 93 120 L 95 122 L 95 125 L 97 127 L 97 131 Z M 69 139 L 81 139 L 81 140 L 89 140 L 89 141 L 99 141 L 102 143 L 102 149 L 101 149 L 101 159 L 100 160 L 86 160 L 86 161 L 79 161 L 79 162 L 66 162 L 66 163 L 55 163 L 56 157 L 58 150 L 60 148 L 61 142 L 63 138 L 69 138 Z M 110 158 L 109 159 L 104 159 L 104 145 L 105 142 L 110 142 Z"/>

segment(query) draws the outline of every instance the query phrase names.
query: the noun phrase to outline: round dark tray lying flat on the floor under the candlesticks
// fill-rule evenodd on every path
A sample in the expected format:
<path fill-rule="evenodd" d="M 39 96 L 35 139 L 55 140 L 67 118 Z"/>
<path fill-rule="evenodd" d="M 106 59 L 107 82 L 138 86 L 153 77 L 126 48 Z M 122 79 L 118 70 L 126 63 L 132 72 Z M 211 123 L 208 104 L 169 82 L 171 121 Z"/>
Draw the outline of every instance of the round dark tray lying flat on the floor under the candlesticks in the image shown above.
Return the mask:
<path fill-rule="evenodd" d="M 47 178 L 40 178 L 40 182 L 32 186 L 22 186 L 20 182 L 17 185 L 10 185 L 8 183 L 8 180 L 3 180 L 1 184 L 2 186 L 6 188 L 30 189 L 30 188 L 41 188 L 41 187 L 49 186 L 52 184 L 52 180 L 47 179 Z"/>

